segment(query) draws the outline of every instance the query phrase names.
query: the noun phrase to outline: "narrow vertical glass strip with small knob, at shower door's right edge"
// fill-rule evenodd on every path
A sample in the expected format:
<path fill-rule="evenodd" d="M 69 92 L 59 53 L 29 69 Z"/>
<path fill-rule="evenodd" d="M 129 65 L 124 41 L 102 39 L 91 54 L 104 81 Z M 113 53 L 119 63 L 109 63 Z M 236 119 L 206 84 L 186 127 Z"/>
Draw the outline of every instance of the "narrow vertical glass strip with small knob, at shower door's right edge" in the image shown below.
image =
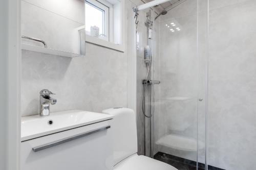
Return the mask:
<path fill-rule="evenodd" d="M 207 103 L 207 11 L 208 3 L 198 1 L 198 169 L 206 169 L 206 103 Z M 210 169 L 215 169 L 212 167 Z"/>

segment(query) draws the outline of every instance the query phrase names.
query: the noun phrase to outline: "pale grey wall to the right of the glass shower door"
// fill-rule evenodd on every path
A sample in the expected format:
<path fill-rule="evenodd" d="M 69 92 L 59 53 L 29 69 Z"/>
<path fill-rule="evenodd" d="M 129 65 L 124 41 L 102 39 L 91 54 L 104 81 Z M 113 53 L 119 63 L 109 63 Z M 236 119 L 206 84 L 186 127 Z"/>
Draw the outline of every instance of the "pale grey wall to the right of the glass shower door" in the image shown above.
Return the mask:
<path fill-rule="evenodd" d="M 256 169 L 256 2 L 210 4 L 209 162 Z"/>

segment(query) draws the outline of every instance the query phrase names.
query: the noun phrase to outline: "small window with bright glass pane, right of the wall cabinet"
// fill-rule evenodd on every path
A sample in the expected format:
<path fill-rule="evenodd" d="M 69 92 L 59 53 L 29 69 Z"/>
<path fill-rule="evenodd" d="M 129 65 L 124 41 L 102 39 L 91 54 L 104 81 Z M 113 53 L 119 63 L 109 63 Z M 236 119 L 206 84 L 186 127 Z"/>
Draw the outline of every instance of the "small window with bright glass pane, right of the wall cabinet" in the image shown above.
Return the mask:
<path fill-rule="evenodd" d="M 104 3 L 104 4 L 103 4 Z M 104 1 L 86 0 L 86 32 L 91 35 L 91 27 L 99 28 L 99 38 L 109 41 L 111 5 Z"/>

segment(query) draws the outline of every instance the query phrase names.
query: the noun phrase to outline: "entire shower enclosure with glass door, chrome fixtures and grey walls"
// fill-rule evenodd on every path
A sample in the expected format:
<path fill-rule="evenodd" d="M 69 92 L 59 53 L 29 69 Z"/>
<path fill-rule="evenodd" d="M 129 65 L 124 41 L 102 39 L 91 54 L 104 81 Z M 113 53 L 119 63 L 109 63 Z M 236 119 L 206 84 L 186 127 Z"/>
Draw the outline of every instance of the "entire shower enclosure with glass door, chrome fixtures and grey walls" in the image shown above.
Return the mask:
<path fill-rule="evenodd" d="M 139 154 L 256 169 L 256 2 L 147 3 L 134 9 Z"/>

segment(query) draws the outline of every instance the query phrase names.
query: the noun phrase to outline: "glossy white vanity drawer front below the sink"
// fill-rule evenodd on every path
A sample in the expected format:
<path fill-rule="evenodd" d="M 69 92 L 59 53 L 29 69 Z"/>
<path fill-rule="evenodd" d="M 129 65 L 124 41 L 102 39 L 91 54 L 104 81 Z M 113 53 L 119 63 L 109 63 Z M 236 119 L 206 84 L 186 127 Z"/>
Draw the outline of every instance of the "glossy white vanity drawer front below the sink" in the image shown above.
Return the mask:
<path fill-rule="evenodd" d="M 111 128 L 106 129 L 108 126 L 110 120 L 24 141 L 21 144 L 21 169 L 113 169 L 112 134 Z M 32 150 L 87 132 L 90 133 L 47 149 Z"/>

